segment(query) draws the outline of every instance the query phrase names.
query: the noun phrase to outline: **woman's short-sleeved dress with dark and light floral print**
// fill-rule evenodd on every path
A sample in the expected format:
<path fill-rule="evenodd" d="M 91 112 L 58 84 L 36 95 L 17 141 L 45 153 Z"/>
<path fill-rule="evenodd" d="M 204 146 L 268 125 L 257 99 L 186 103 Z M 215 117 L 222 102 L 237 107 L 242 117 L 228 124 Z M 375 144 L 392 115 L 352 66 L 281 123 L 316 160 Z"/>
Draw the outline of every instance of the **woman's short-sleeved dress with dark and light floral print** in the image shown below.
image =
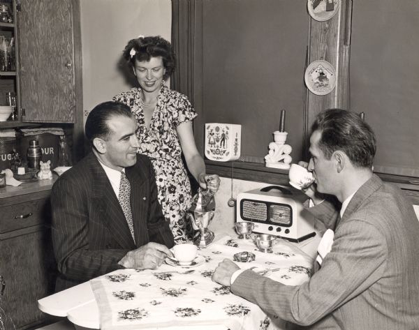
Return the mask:
<path fill-rule="evenodd" d="M 182 161 L 176 128 L 180 123 L 192 121 L 197 114 L 186 96 L 163 85 L 147 129 L 140 96 L 141 89 L 133 88 L 119 93 L 113 100 L 131 107 L 138 122 L 138 152 L 152 160 L 159 202 L 166 220 L 170 223 L 175 241 L 185 241 L 185 213 L 191 204 L 191 183 Z"/>

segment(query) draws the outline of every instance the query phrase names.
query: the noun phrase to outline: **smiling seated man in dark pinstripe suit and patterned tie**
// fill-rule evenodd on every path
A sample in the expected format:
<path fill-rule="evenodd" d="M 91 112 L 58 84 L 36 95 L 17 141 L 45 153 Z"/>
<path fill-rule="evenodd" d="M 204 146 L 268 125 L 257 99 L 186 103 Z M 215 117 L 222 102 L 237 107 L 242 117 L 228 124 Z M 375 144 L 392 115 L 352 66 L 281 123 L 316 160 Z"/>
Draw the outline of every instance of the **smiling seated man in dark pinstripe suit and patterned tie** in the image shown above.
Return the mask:
<path fill-rule="evenodd" d="M 52 187 L 56 291 L 120 268 L 155 269 L 172 256 L 172 232 L 157 200 L 152 164 L 137 153 L 136 127 L 127 105 L 94 107 L 85 126 L 91 153 Z M 119 202 L 126 179 L 129 216 Z"/>

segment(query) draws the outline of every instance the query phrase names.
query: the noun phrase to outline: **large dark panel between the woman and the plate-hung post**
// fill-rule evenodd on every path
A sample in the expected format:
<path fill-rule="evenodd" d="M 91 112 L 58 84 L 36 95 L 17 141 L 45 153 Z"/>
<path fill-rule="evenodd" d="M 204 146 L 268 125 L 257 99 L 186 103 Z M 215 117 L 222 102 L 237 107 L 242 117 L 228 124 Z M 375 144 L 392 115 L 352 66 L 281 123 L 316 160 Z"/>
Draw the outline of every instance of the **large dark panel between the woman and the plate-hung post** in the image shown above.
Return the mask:
<path fill-rule="evenodd" d="M 304 127 L 306 0 L 203 1 L 203 120 L 242 125 L 242 155 L 263 157 L 286 110 L 300 160 Z"/>

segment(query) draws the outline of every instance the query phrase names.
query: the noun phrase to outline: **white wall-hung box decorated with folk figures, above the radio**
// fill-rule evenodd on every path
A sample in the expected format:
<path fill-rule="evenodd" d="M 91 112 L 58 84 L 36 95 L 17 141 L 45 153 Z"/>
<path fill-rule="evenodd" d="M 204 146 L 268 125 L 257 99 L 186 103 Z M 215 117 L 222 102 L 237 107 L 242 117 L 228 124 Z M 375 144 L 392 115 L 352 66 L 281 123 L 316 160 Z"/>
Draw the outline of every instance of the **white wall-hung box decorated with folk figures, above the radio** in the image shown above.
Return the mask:
<path fill-rule="evenodd" d="M 228 162 L 240 158 L 242 125 L 233 123 L 205 124 L 205 156 Z"/>

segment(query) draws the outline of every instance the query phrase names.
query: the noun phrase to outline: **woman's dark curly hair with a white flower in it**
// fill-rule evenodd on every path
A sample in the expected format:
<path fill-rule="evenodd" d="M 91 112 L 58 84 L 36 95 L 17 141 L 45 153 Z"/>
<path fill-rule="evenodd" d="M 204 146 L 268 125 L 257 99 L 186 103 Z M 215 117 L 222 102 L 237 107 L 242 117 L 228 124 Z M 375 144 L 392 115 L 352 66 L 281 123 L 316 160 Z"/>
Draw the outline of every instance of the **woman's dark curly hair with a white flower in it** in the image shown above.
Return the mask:
<path fill-rule="evenodd" d="M 135 54 L 133 54 L 135 51 Z M 166 80 L 175 70 L 175 52 L 168 40 L 161 36 L 139 37 L 131 39 L 125 46 L 124 59 L 132 66 L 137 61 L 149 61 L 152 57 L 161 57 L 166 73 L 163 79 Z"/>

